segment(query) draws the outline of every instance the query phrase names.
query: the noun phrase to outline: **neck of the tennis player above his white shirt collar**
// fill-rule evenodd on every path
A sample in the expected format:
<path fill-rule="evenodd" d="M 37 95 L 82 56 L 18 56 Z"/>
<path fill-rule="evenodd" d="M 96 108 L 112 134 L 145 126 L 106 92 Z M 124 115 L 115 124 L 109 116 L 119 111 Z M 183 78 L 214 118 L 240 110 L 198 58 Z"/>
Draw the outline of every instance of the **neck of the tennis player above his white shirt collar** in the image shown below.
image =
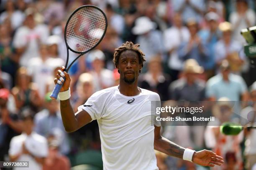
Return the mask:
<path fill-rule="evenodd" d="M 135 95 L 140 94 L 140 92 L 141 92 L 138 89 L 137 80 L 132 84 L 128 84 L 128 83 L 120 80 L 119 91 L 122 95 L 125 95 L 125 96 L 135 96 Z"/>

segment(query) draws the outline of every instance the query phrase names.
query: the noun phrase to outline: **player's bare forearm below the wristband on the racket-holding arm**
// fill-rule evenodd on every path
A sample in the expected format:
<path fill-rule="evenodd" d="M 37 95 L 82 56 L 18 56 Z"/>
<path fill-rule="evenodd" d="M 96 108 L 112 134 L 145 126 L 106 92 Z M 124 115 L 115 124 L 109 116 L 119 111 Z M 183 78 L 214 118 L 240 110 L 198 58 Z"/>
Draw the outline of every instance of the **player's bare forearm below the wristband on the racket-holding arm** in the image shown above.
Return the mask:
<path fill-rule="evenodd" d="M 61 118 L 64 128 L 67 132 L 77 130 L 77 119 L 74 115 L 74 110 L 70 104 L 70 100 L 60 101 Z"/>

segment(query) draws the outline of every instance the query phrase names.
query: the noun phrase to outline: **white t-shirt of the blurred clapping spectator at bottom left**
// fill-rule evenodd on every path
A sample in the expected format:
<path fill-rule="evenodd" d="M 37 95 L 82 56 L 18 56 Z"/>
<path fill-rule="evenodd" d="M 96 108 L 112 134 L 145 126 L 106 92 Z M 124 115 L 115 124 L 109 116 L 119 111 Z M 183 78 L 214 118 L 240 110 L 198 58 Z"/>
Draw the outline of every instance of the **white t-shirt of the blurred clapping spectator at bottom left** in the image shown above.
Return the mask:
<path fill-rule="evenodd" d="M 26 149 L 36 157 L 46 158 L 48 155 L 47 140 L 41 135 L 33 132 L 31 135 L 22 133 L 21 135 L 15 136 L 10 141 L 9 155 L 17 155 L 22 152 L 22 145 L 25 143 Z M 30 155 L 20 155 L 17 161 L 28 161 L 29 168 L 13 168 L 13 170 L 41 170 L 42 166 L 36 162 Z"/>

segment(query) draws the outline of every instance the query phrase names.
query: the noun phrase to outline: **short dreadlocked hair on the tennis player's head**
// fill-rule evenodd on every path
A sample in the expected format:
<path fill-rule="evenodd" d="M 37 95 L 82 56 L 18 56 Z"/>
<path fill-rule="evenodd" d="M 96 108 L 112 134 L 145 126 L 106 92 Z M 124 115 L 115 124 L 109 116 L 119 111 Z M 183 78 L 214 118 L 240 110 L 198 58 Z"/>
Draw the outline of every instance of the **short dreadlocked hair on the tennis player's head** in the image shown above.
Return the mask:
<path fill-rule="evenodd" d="M 139 57 L 139 63 L 143 67 L 143 62 L 146 61 L 146 58 L 145 58 L 145 54 L 141 51 L 141 49 L 139 49 L 139 46 L 140 46 L 139 44 L 133 44 L 133 42 L 131 42 L 131 41 L 126 41 L 120 47 L 116 48 L 115 53 L 114 53 L 114 58 L 113 58 L 115 67 L 117 68 L 117 66 L 118 66 L 118 60 L 119 60 L 120 54 L 122 52 L 124 52 L 125 50 L 132 50 L 132 51 L 136 52 Z M 119 70 L 118 70 L 118 72 L 119 72 Z"/>

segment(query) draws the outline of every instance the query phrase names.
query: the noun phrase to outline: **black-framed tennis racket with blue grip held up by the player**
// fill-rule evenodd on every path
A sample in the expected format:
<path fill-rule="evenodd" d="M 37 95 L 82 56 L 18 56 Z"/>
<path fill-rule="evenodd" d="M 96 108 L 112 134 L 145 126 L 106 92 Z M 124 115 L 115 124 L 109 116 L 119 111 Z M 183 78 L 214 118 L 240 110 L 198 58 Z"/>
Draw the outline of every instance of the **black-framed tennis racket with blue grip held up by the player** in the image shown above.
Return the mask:
<path fill-rule="evenodd" d="M 84 5 L 74 10 L 67 20 L 64 31 L 64 39 L 67 46 L 66 72 L 69 71 L 69 68 L 79 57 L 100 43 L 106 33 L 107 27 L 107 17 L 99 7 Z M 67 67 L 69 50 L 79 55 Z M 62 85 L 63 83 L 61 85 L 56 84 L 50 95 L 51 99 L 56 100 Z"/>

